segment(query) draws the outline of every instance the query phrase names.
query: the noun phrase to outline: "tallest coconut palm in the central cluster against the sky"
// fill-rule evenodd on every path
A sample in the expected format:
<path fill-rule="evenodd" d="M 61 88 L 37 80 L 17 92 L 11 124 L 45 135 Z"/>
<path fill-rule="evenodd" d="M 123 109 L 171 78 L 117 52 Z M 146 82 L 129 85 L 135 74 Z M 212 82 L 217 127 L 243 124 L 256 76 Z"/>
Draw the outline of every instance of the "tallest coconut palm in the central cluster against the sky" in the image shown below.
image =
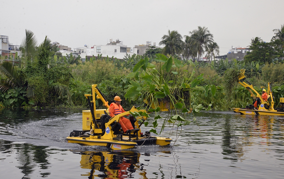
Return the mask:
<path fill-rule="evenodd" d="M 213 35 L 210 33 L 210 31 L 204 26 L 198 26 L 197 29 L 193 31 L 189 31 L 189 34 L 191 35 L 191 38 L 193 38 L 196 43 L 198 44 L 198 59 L 201 57 L 201 55 L 204 53 L 204 50 L 206 50 L 206 47 L 209 43 L 213 43 Z"/>

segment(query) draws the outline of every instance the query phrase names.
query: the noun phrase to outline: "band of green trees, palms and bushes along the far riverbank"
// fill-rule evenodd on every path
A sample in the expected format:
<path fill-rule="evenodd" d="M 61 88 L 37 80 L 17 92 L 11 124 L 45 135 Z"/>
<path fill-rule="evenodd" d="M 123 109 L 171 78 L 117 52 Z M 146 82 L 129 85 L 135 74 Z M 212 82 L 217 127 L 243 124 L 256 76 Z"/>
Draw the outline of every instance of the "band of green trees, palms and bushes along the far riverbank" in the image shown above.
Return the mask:
<path fill-rule="evenodd" d="M 11 61 L 0 63 L 0 106 L 86 106 L 83 94 L 90 92 L 91 84 L 99 84 L 99 88 L 105 96 L 112 99 L 116 95 L 125 96 L 131 87 L 135 88 L 135 85 L 137 85 L 137 89 L 133 90 L 133 88 L 132 92 L 136 94 L 140 89 L 139 83 L 145 82 L 146 84 L 146 81 L 150 83 L 151 77 L 158 75 L 156 77 L 158 81 L 154 82 L 158 83 L 160 87 L 164 85 L 169 89 L 178 87 L 179 91 L 188 85 L 191 86 L 191 80 L 196 80 L 192 89 L 196 94 L 202 95 L 196 96 L 194 93 L 190 98 L 187 98 L 196 101 L 196 104 L 209 106 L 213 102 L 212 107 L 218 106 L 221 109 L 228 109 L 230 105 L 238 107 L 236 106 L 239 104 L 237 100 L 234 104 L 222 101 L 226 98 L 222 77 L 228 69 L 245 68 L 247 69 L 247 77 L 258 79 L 259 83 L 273 79 L 271 82 L 279 83 L 277 88 L 279 95 L 282 94 L 282 88 L 284 91 L 284 86 L 281 86 L 284 66 L 279 65 L 283 62 L 284 25 L 281 25 L 281 29 L 273 31 L 275 36 L 268 43 L 263 42 L 260 37 L 252 38 L 249 47 L 252 51 L 248 52 L 245 60 L 241 62 L 212 60 L 214 56 L 219 54 L 219 46 L 214 42 L 210 31 L 201 26 L 196 30 L 189 31 L 189 35 L 183 37 L 176 30 L 168 30 L 168 34 L 163 35 L 159 43 L 164 45 L 164 48 L 150 47 L 143 56 L 127 55 L 120 60 L 99 55 L 86 58 L 86 61 L 82 62 L 80 56 L 77 58 L 72 55 L 62 56 L 57 52 L 57 47 L 51 45 L 51 40 L 47 37 L 38 44 L 32 31 L 26 30 L 26 37 L 21 43 L 22 56 L 17 56 L 20 58 L 19 63 Z M 156 56 L 156 54 L 164 54 L 164 56 Z M 211 63 L 193 63 L 188 60 L 189 58 L 199 59 L 204 54 L 212 60 Z M 1 58 L 3 59 L 3 57 Z M 147 68 L 143 68 L 139 64 L 143 64 Z M 169 64 L 173 65 L 172 68 Z M 277 66 L 273 64 L 277 64 Z M 157 71 L 159 66 L 163 67 L 164 71 Z M 150 71 L 153 74 L 149 76 L 146 73 Z M 266 77 L 262 77 L 264 73 Z M 202 74 L 204 75 L 202 76 Z M 273 78 L 268 78 L 267 75 Z M 187 85 L 185 81 L 188 82 Z M 258 83 L 258 81 L 256 82 Z M 195 89 L 196 85 L 199 85 L 199 90 Z M 208 94 L 211 88 L 214 93 Z M 145 90 L 145 87 L 141 86 L 142 89 Z M 167 89 L 158 89 L 158 91 L 168 95 Z M 140 93 L 138 92 L 138 94 Z M 159 96 L 163 96 L 163 94 L 159 94 Z M 213 96 L 219 99 L 214 100 Z M 243 97 L 245 98 L 245 96 Z M 246 103 L 243 97 L 241 104 Z M 239 96 L 236 98 L 241 100 Z M 222 106 L 222 104 L 230 105 Z M 131 106 L 131 101 L 125 101 L 124 106 L 127 105 Z"/>

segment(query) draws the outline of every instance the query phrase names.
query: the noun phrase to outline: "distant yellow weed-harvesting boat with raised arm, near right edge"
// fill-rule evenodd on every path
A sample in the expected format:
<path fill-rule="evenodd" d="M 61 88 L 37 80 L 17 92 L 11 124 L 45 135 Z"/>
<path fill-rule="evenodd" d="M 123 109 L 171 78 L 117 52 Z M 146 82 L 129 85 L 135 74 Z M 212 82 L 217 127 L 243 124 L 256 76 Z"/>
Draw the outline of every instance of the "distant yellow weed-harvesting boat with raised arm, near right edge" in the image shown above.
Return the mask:
<path fill-rule="evenodd" d="M 274 96 L 270 82 L 268 82 L 268 96 L 266 101 L 262 99 L 261 95 L 253 88 L 253 85 L 246 80 L 245 69 L 242 69 L 239 73 L 239 84 L 249 90 L 253 102 L 257 101 L 258 107 L 255 108 L 254 105 L 249 104 L 249 106 L 245 108 L 233 108 L 234 112 L 249 115 L 284 115 L 284 98 L 280 98 L 280 108 L 274 109 Z M 261 88 L 264 89 L 264 87 Z"/>

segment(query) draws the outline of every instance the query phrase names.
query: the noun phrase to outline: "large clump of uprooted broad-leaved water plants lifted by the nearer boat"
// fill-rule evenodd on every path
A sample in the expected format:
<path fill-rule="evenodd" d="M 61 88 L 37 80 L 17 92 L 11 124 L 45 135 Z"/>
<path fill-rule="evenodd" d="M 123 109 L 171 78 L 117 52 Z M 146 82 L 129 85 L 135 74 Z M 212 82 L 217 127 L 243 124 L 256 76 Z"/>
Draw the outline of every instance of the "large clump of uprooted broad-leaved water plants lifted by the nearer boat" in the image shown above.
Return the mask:
<path fill-rule="evenodd" d="M 148 117 L 149 112 L 159 112 L 161 108 L 168 109 L 169 115 L 163 122 L 161 132 L 166 123 L 172 123 L 173 126 L 176 124 L 177 127 L 191 123 L 181 116 L 182 113 L 193 114 L 193 121 L 195 121 L 194 113 L 199 112 L 203 106 L 195 103 L 192 97 L 195 96 L 194 92 L 203 90 L 206 95 L 211 92 L 214 96 L 216 87 L 214 85 L 207 85 L 205 88 L 198 86 L 203 81 L 203 74 L 194 78 L 194 71 L 192 73 L 186 71 L 183 76 L 179 76 L 179 68 L 183 66 L 183 63 L 172 56 L 166 57 L 162 54 L 156 54 L 154 60 L 158 64 L 149 63 L 147 57 L 141 59 L 134 66 L 133 72 L 129 73 L 124 79 L 124 82 L 128 84 L 124 97 L 128 100 L 140 101 L 146 109 L 145 112 L 133 113 L 132 115 Z M 174 80 L 165 81 L 164 76 L 167 73 L 172 73 Z M 157 119 L 162 119 L 162 117 L 156 115 L 153 122 L 154 129 L 150 131 L 156 134 Z M 148 123 L 145 123 L 145 125 L 148 125 Z"/>

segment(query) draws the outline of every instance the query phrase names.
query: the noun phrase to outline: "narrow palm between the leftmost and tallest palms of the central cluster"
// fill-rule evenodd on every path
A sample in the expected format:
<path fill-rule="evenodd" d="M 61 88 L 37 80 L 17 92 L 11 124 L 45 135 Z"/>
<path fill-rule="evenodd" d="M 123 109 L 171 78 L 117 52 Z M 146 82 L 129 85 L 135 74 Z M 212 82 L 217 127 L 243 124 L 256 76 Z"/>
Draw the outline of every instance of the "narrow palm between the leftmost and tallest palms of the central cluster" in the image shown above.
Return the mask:
<path fill-rule="evenodd" d="M 185 57 L 186 59 L 189 59 L 189 57 L 191 56 L 193 60 L 195 61 L 195 57 L 198 54 L 197 43 L 188 35 L 185 35 L 183 37 L 185 38 L 183 57 Z"/>

